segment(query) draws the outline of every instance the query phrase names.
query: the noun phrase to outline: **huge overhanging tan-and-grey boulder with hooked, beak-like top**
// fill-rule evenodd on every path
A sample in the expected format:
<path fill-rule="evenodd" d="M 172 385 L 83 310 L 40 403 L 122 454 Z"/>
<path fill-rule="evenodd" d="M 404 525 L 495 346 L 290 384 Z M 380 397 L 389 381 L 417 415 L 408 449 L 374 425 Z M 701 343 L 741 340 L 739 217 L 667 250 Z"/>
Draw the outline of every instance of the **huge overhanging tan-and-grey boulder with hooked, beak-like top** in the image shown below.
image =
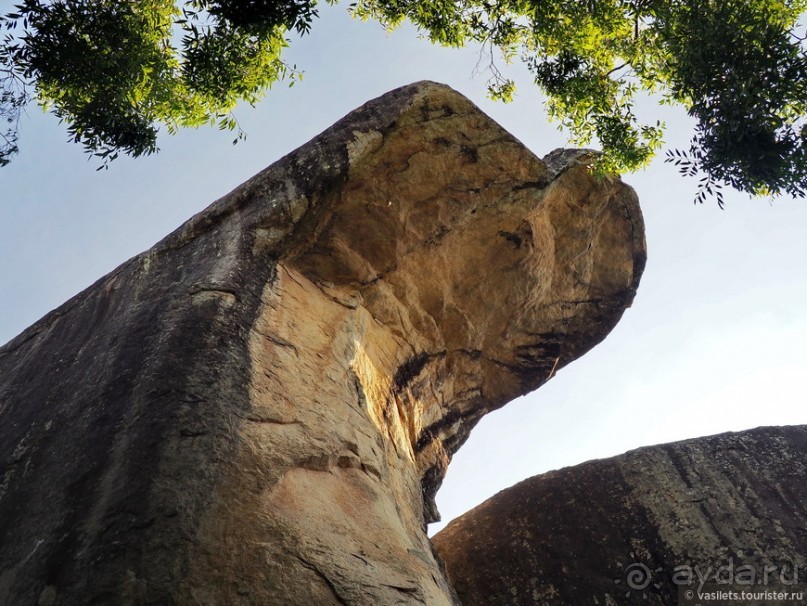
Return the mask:
<path fill-rule="evenodd" d="M 407 86 L 0 349 L 0 603 L 456 603 L 452 453 L 644 266 L 586 157 Z"/>

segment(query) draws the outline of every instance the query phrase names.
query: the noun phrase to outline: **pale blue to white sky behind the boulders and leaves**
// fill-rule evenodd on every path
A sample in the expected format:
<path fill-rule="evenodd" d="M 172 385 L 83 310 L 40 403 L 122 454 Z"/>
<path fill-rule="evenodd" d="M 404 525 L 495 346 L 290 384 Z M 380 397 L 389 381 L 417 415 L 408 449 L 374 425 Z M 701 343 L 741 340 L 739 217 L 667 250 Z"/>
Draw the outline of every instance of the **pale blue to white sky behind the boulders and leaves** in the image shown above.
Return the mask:
<path fill-rule="evenodd" d="M 12 3 L 0 1 L 3 12 Z M 193 213 L 365 101 L 417 80 L 468 96 L 537 155 L 565 139 L 544 117 L 529 75 L 515 102 L 485 98 L 476 51 L 431 46 L 404 27 L 356 22 L 322 6 L 286 58 L 301 83 L 237 114 L 248 139 L 188 131 L 158 155 L 96 172 L 62 126 L 36 107 L 20 155 L 0 169 L 0 343 L 5 343 Z M 668 146 L 691 124 L 652 101 Z M 642 115 L 640 113 L 640 115 Z M 625 175 L 642 202 L 649 260 L 634 305 L 606 340 L 547 385 L 488 415 L 449 467 L 444 521 L 515 482 L 642 445 L 760 425 L 807 423 L 807 202 L 727 195 L 694 206 L 694 181 L 663 162 Z M 434 525 L 432 530 L 439 527 Z"/>

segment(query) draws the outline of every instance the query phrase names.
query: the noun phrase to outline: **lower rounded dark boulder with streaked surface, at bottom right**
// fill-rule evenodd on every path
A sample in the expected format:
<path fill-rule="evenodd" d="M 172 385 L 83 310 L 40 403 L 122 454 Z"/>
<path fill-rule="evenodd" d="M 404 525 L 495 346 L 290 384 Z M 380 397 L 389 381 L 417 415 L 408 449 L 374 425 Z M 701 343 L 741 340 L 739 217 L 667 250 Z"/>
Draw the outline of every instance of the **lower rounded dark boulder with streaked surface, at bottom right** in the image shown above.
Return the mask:
<path fill-rule="evenodd" d="M 434 545 L 465 606 L 804 604 L 805 478 L 807 426 L 641 448 L 525 480 Z"/>

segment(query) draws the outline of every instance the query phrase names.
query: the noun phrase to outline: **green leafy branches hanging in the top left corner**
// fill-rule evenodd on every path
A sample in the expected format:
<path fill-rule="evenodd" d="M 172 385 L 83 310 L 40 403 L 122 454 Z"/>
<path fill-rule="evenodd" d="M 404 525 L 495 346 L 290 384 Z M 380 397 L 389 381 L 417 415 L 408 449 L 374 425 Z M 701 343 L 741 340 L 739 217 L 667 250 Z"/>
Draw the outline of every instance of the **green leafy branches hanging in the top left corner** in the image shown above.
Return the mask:
<path fill-rule="evenodd" d="M 281 59 L 285 32 L 304 31 L 314 16 L 313 4 L 25 0 L 4 18 L 3 56 L 10 78 L 35 88 L 89 152 L 140 156 L 157 150 L 160 127 L 237 129 L 239 101 L 294 78 Z"/>

